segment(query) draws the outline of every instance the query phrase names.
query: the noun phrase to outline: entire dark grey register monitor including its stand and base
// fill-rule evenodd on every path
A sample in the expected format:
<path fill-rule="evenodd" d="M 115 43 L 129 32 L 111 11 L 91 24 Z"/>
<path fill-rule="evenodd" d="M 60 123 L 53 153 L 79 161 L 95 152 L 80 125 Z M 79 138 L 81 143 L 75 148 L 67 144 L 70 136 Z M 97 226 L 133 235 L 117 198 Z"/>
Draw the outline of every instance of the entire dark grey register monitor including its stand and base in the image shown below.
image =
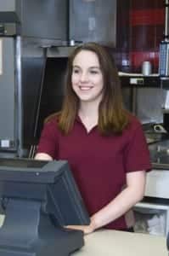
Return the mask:
<path fill-rule="evenodd" d="M 68 256 L 83 238 L 63 226 L 90 222 L 65 160 L 0 159 L 0 211 L 0 256 Z"/>

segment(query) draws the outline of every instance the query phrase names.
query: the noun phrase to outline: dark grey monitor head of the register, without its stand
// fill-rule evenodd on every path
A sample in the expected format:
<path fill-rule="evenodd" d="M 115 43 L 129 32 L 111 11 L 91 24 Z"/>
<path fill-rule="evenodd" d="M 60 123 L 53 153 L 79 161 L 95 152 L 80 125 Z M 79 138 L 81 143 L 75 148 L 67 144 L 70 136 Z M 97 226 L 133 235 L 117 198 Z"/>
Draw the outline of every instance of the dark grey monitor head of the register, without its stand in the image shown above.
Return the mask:
<path fill-rule="evenodd" d="M 68 162 L 0 159 L 0 199 L 41 201 L 56 224 L 89 224 L 82 196 Z"/>

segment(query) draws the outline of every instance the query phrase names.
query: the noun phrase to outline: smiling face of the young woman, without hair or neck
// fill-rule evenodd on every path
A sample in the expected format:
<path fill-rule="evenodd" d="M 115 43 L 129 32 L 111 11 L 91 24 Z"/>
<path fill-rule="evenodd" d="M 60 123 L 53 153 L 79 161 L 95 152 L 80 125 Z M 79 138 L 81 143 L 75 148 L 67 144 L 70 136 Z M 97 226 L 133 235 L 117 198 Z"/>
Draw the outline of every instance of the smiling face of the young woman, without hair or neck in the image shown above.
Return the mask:
<path fill-rule="evenodd" d="M 80 51 L 74 61 L 71 75 L 72 88 L 81 102 L 100 102 L 104 79 L 98 56 L 90 50 Z"/>

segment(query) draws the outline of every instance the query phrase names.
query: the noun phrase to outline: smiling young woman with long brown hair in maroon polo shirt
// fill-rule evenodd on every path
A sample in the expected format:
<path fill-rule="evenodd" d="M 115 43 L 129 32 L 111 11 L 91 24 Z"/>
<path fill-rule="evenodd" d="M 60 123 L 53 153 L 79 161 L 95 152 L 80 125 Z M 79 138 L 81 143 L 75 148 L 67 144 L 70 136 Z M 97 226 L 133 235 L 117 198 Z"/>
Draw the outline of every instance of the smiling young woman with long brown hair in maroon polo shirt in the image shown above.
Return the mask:
<path fill-rule="evenodd" d="M 91 216 L 85 234 L 128 230 L 151 168 L 142 126 L 122 104 L 114 61 L 99 44 L 77 47 L 68 62 L 63 108 L 44 125 L 37 160 L 68 160 Z"/>

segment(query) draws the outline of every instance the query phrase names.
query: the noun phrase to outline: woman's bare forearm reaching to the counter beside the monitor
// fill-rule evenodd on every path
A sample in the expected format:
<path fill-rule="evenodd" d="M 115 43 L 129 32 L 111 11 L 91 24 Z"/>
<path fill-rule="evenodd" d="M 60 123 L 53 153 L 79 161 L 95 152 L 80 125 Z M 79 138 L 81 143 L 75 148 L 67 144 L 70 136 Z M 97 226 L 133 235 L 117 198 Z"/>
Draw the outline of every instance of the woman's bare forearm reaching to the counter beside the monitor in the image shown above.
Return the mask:
<path fill-rule="evenodd" d="M 145 189 L 145 172 L 128 172 L 127 173 L 127 187 L 122 190 L 114 200 L 103 207 L 99 212 L 96 212 L 91 217 L 91 224 L 87 226 L 68 226 L 71 229 L 84 231 L 89 234 L 94 230 L 103 227 L 106 224 L 121 217 L 129 209 L 131 209 L 138 201 L 144 197 Z"/>

